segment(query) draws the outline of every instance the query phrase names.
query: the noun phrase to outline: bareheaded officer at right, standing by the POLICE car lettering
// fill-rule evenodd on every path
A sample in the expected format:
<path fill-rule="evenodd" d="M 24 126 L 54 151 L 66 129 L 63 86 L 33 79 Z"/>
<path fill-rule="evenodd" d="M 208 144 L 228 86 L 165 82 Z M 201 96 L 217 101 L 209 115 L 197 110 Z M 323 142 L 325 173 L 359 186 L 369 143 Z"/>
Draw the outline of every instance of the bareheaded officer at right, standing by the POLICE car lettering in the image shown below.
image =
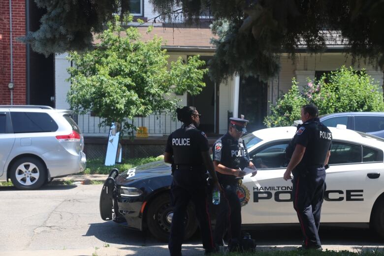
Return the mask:
<path fill-rule="evenodd" d="M 302 125 L 289 143 L 286 154 L 290 159 L 284 179 L 293 174 L 293 208 L 301 226 L 304 241 L 299 249 L 321 251 L 319 238 L 321 204 L 325 191 L 325 169 L 328 166 L 332 133 L 320 123 L 319 110 L 314 104 L 301 108 Z"/>

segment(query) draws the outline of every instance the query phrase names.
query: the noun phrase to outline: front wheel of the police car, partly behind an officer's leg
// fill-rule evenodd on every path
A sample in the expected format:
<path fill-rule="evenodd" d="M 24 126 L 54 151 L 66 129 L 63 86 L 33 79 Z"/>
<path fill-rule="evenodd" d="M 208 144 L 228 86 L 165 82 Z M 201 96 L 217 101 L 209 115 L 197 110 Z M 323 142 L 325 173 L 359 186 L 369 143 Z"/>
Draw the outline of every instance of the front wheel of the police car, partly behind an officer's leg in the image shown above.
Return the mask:
<path fill-rule="evenodd" d="M 160 241 L 169 240 L 173 208 L 171 206 L 169 193 L 160 194 L 151 201 L 147 212 L 147 225 L 151 234 Z M 195 212 L 190 203 L 187 208 L 185 219 L 184 239 L 187 240 L 196 232 L 197 222 Z"/>

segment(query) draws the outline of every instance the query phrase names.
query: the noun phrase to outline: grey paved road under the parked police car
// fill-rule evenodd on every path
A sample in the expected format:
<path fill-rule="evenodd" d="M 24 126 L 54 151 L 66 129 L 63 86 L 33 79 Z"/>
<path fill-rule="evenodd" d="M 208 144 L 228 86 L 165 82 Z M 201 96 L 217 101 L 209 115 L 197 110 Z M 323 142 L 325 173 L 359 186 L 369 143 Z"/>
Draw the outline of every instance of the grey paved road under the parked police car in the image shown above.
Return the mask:
<path fill-rule="evenodd" d="M 168 255 L 167 245 L 150 235 L 102 221 L 100 191 L 101 185 L 52 185 L 38 191 L 0 187 L 0 255 Z M 300 241 L 298 229 L 251 234 L 259 250 L 292 250 Z M 324 249 L 384 250 L 383 240 L 369 230 L 323 229 L 320 236 Z M 199 241 L 198 235 L 188 241 L 183 255 L 203 255 Z"/>

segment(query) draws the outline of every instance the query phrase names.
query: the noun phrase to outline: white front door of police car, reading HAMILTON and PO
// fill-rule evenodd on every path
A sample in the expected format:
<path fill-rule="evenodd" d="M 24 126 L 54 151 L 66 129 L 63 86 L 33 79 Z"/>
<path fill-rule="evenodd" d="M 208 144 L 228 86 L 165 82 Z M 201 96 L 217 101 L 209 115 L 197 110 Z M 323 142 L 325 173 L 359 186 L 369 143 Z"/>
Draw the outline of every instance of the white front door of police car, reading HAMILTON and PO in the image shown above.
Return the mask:
<path fill-rule="evenodd" d="M 288 160 L 285 149 L 289 140 L 263 144 L 250 152 L 258 169 L 256 176 L 244 177 L 250 191 L 249 202 L 242 208 L 243 224 L 296 223 L 292 206 L 292 182 L 283 179 Z"/>

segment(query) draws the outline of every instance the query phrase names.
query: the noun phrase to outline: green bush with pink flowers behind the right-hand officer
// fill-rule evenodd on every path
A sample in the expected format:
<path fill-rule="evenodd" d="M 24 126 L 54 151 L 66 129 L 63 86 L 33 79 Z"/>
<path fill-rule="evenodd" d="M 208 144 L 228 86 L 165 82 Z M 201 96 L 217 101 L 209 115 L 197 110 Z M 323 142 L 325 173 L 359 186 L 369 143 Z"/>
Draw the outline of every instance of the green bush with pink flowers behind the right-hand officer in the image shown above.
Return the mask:
<path fill-rule="evenodd" d="M 265 117 L 267 127 L 290 126 L 300 119 L 304 104 L 314 103 L 319 114 L 339 112 L 384 111 L 381 87 L 364 70 L 355 71 L 342 66 L 339 70 L 324 74 L 319 81 L 308 81 L 303 93 L 292 79 L 292 88 L 271 106 L 271 115 Z"/>

